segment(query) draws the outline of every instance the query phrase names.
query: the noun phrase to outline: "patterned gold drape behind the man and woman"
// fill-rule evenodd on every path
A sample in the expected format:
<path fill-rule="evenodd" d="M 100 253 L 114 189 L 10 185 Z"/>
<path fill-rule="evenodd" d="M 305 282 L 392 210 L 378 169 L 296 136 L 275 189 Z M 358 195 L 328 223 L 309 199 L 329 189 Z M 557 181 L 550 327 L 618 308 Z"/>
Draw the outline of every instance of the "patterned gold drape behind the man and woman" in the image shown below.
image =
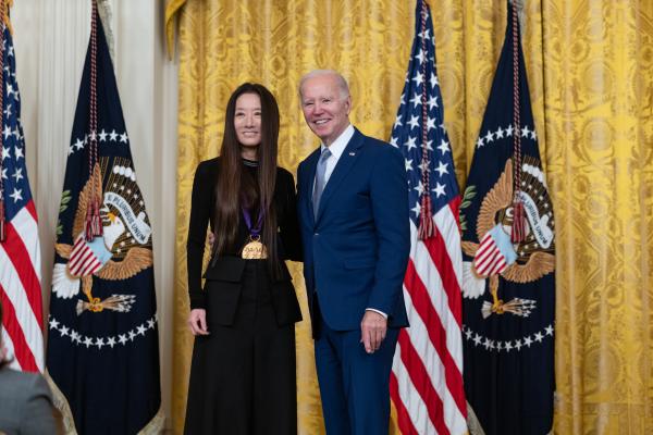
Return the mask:
<path fill-rule="evenodd" d="M 505 1 L 430 3 L 445 123 L 464 186 Z M 652 433 L 653 1 L 523 3 L 522 44 L 557 221 L 555 432 Z M 354 123 L 387 138 L 414 10 L 411 0 L 169 0 L 168 29 L 178 24 L 180 52 L 175 433 L 193 346 L 185 324 L 189 194 L 197 163 L 218 153 L 231 91 L 245 80 L 273 91 L 282 113 L 280 164 L 291 171 L 317 146 L 297 99 L 309 70 L 341 71 L 352 86 Z M 305 319 L 297 326 L 299 431 L 320 434 L 300 265 L 292 272 Z"/>

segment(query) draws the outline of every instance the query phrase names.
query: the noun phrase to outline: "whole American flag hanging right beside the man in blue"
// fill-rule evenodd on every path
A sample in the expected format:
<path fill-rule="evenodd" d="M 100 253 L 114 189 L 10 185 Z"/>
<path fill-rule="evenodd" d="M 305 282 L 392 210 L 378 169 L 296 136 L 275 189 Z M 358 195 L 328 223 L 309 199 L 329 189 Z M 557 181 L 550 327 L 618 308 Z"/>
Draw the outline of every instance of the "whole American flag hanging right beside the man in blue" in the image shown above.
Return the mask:
<path fill-rule="evenodd" d="M 391 396 L 404 434 L 467 433 L 460 196 L 443 119 L 431 12 L 418 0 L 415 40 L 391 138 L 406 160 L 411 209 L 410 259 L 404 278 L 410 327 L 399 333 L 391 375 Z M 426 198 L 433 233 L 420 239 L 422 212 L 429 208 Z"/>

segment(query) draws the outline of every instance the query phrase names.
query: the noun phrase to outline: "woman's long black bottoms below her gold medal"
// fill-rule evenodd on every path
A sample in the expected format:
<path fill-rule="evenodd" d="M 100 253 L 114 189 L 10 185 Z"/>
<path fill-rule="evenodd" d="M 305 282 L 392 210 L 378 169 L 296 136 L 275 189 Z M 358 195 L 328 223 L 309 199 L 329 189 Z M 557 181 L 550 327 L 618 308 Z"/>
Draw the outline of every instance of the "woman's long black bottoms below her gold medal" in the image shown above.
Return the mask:
<path fill-rule="evenodd" d="M 193 349 L 185 434 L 297 433 L 295 325 L 278 326 L 266 261 L 248 260 L 234 323 L 211 319 Z"/>

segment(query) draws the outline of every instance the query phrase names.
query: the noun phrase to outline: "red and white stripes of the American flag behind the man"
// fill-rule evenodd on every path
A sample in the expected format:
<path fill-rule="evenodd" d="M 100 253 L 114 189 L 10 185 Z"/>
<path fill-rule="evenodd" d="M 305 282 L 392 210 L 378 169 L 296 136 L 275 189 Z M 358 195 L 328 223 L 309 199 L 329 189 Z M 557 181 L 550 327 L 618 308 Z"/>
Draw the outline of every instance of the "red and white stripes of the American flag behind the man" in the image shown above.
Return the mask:
<path fill-rule="evenodd" d="M 411 248 L 404 298 L 410 327 L 402 330 L 390 381 L 403 434 L 466 434 L 463 387 L 463 256 L 459 197 L 434 216 L 435 236 Z"/>

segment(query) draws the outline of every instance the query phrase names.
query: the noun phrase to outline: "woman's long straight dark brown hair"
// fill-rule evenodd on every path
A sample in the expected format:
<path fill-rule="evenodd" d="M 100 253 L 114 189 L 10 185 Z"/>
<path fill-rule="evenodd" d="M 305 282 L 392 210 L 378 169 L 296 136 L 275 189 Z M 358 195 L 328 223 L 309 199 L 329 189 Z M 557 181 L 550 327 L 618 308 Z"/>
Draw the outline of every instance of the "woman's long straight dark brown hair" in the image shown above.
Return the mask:
<path fill-rule="evenodd" d="M 243 170 L 241 144 L 234 127 L 236 100 L 244 94 L 258 95 L 261 100 L 261 144 L 257 148 L 257 178 L 252 179 Z M 274 96 L 262 85 L 244 83 L 232 94 L 226 104 L 224 136 L 220 151 L 220 171 L 215 194 L 215 233 L 214 254 L 237 247 L 238 225 L 242 219 L 241 207 L 252 211 L 252 221 L 258 213 L 264 213 L 261 241 L 268 248 L 268 264 L 275 276 L 279 275 L 280 263 L 276 252 L 276 214 L 273 207 L 274 186 L 276 183 L 276 141 L 279 139 L 279 107 Z"/>

